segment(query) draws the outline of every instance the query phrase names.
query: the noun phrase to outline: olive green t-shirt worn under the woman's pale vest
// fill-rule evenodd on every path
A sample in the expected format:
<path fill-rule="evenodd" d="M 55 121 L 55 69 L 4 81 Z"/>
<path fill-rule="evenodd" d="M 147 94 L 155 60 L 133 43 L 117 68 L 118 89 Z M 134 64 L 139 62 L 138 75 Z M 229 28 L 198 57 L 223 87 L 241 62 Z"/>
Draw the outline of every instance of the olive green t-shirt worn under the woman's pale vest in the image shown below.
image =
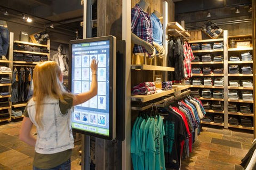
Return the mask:
<path fill-rule="evenodd" d="M 73 98 L 66 98 L 67 103 L 59 101 L 60 111 L 64 115 L 73 106 Z M 29 117 L 27 107 L 24 110 L 24 116 Z M 72 155 L 72 149 L 68 149 L 58 153 L 41 154 L 35 152 L 33 165 L 41 169 L 49 169 L 58 166 L 67 161 Z"/>

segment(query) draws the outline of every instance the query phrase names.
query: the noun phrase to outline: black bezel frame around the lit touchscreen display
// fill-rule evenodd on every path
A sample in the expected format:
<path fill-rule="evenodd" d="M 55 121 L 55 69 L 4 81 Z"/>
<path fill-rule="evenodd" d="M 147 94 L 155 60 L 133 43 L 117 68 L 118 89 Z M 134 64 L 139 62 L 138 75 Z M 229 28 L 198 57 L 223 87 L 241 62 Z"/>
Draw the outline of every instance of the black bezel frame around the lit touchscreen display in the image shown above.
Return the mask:
<path fill-rule="evenodd" d="M 81 44 L 81 43 L 92 43 L 98 41 L 109 41 L 109 136 L 101 135 L 97 133 L 92 133 L 88 131 L 83 131 L 81 129 L 73 128 L 74 132 L 82 133 L 85 135 L 100 137 L 101 139 L 113 140 L 115 138 L 115 117 L 116 117 L 116 107 L 115 107 L 115 96 L 116 96 L 116 38 L 114 36 L 105 36 L 105 37 L 95 37 L 95 38 L 86 38 L 86 39 L 77 39 L 69 42 L 69 91 L 71 92 L 71 66 L 73 62 L 72 56 L 72 45 Z M 111 64 L 112 63 L 112 64 Z"/>

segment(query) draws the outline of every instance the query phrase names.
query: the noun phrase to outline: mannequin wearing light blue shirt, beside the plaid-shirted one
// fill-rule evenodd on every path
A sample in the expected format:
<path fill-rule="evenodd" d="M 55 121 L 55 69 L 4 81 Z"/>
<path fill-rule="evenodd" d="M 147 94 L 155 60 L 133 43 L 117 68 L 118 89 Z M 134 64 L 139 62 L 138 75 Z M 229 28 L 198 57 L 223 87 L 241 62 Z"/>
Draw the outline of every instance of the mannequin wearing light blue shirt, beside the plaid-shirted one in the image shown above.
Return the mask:
<path fill-rule="evenodd" d="M 151 13 L 151 21 L 152 21 L 152 25 L 153 25 L 153 44 L 154 47 L 156 48 L 157 56 L 159 56 L 159 58 L 163 58 L 164 54 L 165 54 L 165 50 L 163 47 L 163 26 L 161 21 L 159 20 L 159 17 L 161 17 L 161 13 L 154 10 L 153 13 Z"/>

